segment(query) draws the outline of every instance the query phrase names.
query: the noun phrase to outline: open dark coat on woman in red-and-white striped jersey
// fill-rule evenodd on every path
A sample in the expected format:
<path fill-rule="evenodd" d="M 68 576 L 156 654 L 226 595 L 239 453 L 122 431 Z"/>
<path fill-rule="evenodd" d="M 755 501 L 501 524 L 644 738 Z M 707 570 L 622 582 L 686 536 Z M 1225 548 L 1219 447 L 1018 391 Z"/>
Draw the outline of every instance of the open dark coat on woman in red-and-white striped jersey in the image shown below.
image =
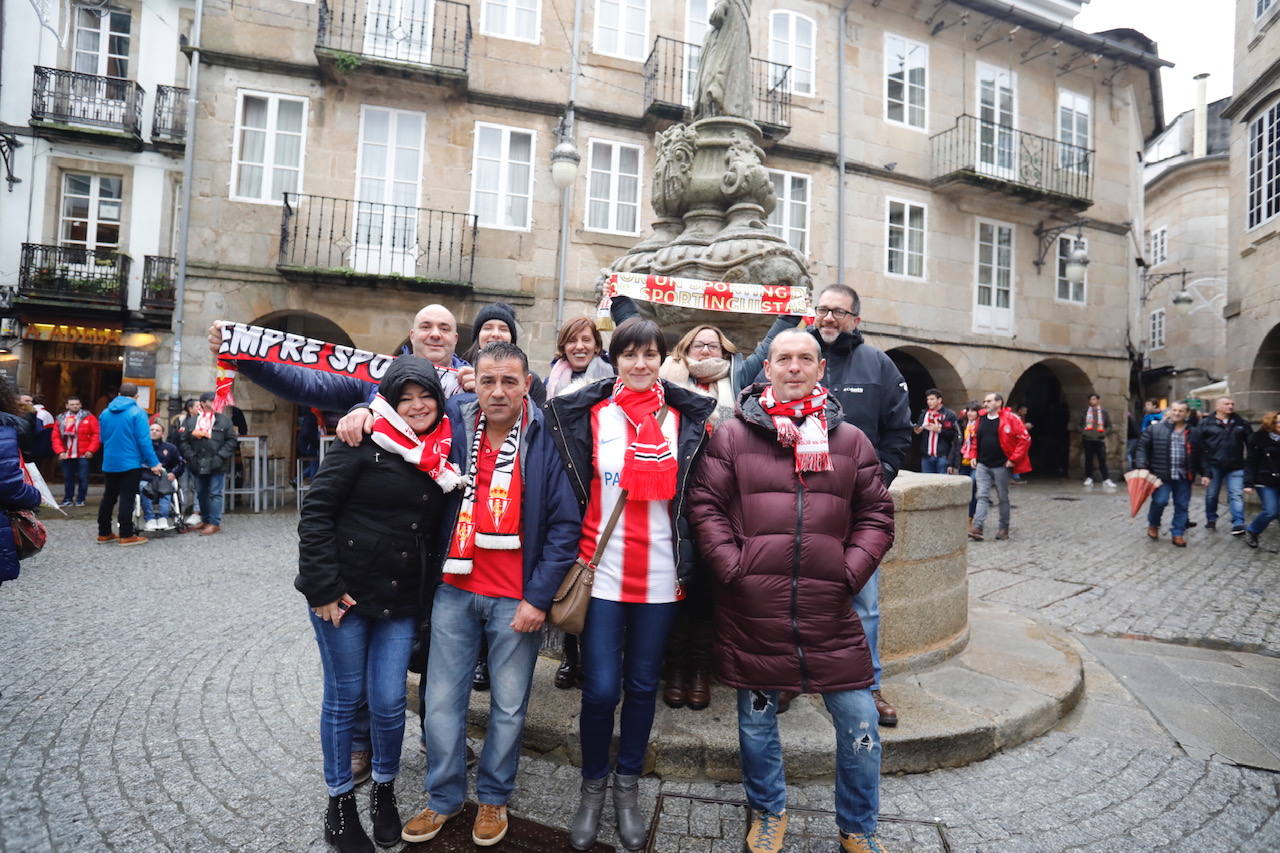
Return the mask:
<path fill-rule="evenodd" d="M 591 496 L 591 478 L 595 466 L 591 462 L 591 406 L 613 393 L 616 379 L 600 379 L 579 388 L 573 393 L 562 394 L 547 401 L 547 420 L 552 428 L 556 448 L 568 471 L 568 479 L 577 496 L 579 510 L 586 516 L 586 502 Z M 671 502 L 672 532 L 676 543 L 676 580 L 689 583 L 694 576 L 696 549 L 689 529 L 687 497 L 689 484 L 698 467 L 699 457 L 707 446 L 707 419 L 716 410 L 710 397 L 673 386 L 659 379 L 667 392 L 667 405 L 680 412 L 680 434 L 675 448 L 680 470 L 676 473 L 676 497 Z"/>

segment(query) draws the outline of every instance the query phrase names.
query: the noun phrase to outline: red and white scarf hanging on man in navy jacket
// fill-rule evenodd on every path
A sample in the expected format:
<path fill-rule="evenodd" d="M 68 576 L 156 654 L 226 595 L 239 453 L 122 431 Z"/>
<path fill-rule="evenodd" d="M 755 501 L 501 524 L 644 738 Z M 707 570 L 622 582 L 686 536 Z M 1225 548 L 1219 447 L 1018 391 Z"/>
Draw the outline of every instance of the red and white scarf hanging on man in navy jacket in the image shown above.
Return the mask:
<path fill-rule="evenodd" d="M 449 556 L 444 561 L 444 574 L 470 575 L 476 547 L 488 551 L 520 549 L 520 488 L 512 488 L 512 474 L 520 456 L 520 430 L 527 414 L 527 401 L 521 409 L 516 424 L 502 439 L 498 459 L 494 460 L 493 478 L 488 493 L 479 496 L 476 476 L 480 470 L 480 443 L 484 441 L 489 419 L 480 412 L 476 433 L 471 438 L 471 455 L 467 457 L 467 475 L 463 478 L 462 507 L 458 510 L 458 523 L 449 540 Z M 486 511 L 476 515 L 476 503 Z"/>

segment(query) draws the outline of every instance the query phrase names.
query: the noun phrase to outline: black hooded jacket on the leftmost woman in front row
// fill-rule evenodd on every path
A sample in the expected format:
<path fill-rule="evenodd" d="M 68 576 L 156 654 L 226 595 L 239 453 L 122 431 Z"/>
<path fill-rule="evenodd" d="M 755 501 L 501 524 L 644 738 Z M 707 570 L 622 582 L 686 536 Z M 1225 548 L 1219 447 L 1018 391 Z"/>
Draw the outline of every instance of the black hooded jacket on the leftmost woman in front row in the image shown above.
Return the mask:
<path fill-rule="evenodd" d="M 378 392 L 394 405 L 406 382 L 431 392 L 443 414 L 430 361 L 396 359 Z M 360 447 L 334 442 L 302 505 L 293 585 L 311 607 L 348 593 L 369 619 L 420 616 L 439 576 L 444 506 L 435 480 L 372 438 Z"/>

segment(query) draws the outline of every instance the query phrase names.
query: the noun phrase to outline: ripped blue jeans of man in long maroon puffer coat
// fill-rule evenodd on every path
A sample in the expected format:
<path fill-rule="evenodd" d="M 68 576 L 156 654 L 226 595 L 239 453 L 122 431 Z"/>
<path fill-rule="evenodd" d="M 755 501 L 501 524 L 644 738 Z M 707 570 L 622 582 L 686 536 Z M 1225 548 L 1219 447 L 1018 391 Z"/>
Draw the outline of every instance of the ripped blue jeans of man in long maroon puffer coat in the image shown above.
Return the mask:
<path fill-rule="evenodd" d="M 823 693 L 836 726 L 836 825 L 841 833 L 874 833 L 879 813 L 879 715 L 872 692 Z M 742 790 L 758 812 L 787 807 L 787 783 L 778 739 L 778 694 L 737 692 L 737 744 Z"/>

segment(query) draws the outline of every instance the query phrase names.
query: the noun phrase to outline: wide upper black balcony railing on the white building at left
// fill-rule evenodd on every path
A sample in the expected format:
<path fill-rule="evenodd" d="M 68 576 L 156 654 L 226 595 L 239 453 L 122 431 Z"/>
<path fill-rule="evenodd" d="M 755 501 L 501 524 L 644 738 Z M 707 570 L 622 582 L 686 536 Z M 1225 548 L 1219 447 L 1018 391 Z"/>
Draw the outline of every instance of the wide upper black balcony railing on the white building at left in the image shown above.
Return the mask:
<path fill-rule="evenodd" d="M 142 136 L 142 87 L 131 79 L 36 67 L 31 118 Z"/>

